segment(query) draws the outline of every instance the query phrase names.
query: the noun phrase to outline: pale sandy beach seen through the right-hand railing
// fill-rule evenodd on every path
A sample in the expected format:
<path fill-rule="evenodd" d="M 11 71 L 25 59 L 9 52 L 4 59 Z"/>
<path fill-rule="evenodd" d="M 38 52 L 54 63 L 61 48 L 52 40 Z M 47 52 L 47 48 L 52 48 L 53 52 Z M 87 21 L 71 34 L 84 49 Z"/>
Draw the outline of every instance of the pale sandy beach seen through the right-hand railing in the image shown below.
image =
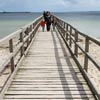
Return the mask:
<path fill-rule="evenodd" d="M 99 39 L 100 40 L 100 39 Z M 80 43 L 81 45 L 84 46 L 85 42 Z M 84 66 L 84 55 L 82 54 L 81 51 L 79 51 L 79 60 Z M 90 42 L 89 45 L 89 53 L 91 56 L 100 64 L 100 47 L 92 42 Z M 88 65 L 88 76 L 90 80 L 92 81 L 93 85 L 96 87 L 97 91 L 100 93 L 100 70 L 94 66 L 93 63 L 89 60 L 89 65 Z"/>

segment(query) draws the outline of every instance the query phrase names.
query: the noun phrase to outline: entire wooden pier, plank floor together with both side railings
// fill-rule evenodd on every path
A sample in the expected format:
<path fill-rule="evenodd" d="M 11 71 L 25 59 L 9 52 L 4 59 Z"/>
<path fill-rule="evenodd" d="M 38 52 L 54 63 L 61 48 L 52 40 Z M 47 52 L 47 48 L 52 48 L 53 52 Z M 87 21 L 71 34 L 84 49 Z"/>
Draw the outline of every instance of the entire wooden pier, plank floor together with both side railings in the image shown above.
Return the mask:
<path fill-rule="evenodd" d="M 10 63 L 11 74 L 1 90 L 0 100 L 100 100 L 100 94 L 86 74 L 87 59 L 100 70 L 99 64 L 87 53 L 89 39 L 98 45 L 100 42 L 87 36 L 84 51 L 77 43 L 78 32 L 74 29 L 73 36 L 73 27 L 69 24 L 56 18 L 56 30 L 42 32 L 41 19 L 1 41 L 9 42 L 11 54 L 1 72 L 4 72 L 4 65 Z M 16 34 L 20 39 L 14 46 Z M 75 42 L 74 53 L 70 48 L 72 41 Z M 85 54 L 84 68 L 77 60 L 78 48 Z"/>

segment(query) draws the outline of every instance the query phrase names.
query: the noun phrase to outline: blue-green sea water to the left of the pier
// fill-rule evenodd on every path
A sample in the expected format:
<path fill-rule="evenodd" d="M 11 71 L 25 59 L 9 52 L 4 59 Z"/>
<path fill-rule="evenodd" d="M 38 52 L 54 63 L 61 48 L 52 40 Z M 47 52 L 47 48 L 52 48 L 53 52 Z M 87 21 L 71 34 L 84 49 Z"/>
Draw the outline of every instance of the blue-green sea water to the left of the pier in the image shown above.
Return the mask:
<path fill-rule="evenodd" d="M 0 13 L 0 38 L 29 24 L 40 15 L 40 13 Z"/>

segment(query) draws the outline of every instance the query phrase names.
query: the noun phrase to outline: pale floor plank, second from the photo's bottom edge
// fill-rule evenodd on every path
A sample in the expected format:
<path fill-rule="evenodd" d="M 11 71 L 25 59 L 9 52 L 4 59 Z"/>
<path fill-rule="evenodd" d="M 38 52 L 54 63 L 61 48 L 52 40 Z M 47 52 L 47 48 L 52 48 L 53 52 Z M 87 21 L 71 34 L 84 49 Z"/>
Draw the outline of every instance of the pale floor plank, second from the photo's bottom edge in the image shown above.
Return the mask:
<path fill-rule="evenodd" d="M 65 91 L 7 91 L 6 95 L 64 95 Z M 66 95 L 92 95 L 90 91 L 66 91 Z"/>

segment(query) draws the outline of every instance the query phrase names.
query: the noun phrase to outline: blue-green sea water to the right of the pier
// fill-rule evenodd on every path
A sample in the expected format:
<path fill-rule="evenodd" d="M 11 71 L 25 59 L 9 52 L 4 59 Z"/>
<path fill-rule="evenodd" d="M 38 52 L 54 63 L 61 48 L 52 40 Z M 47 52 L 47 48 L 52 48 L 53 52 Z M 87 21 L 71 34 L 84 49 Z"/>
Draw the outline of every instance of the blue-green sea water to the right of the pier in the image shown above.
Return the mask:
<path fill-rule="evenodd" d="M 56 14 L 80 32 L 100 37 L 100 12 L 69 12 Z"/>

